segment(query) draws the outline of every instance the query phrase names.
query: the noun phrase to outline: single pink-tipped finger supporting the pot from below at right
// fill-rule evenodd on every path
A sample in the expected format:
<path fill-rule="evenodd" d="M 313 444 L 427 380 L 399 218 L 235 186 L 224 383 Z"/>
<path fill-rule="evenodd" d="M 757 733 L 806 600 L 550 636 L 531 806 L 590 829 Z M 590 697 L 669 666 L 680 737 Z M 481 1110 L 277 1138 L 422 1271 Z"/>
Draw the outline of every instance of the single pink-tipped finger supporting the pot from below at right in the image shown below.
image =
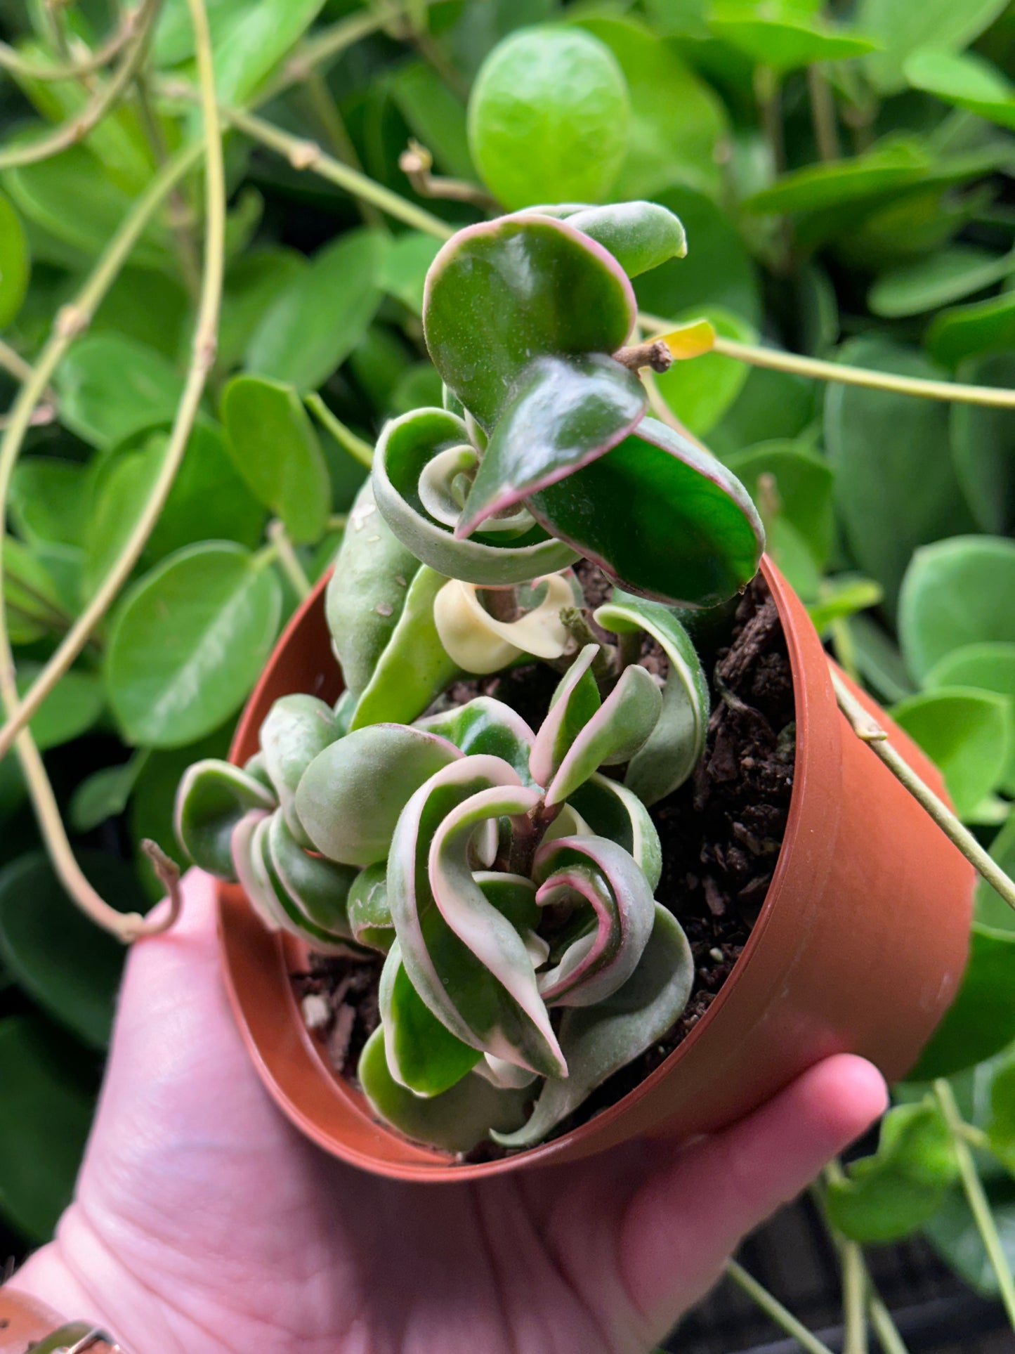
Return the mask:
<path fill-rule="evenodd" d="M 624 1284 L 647 1328 L 669 1330 L 740 1238 L 869 1128 L 886 1099 L 877 1068 L 840 1053 L 732 1128 L 670 1155 L 639 1187 L 621 1228 Z"/>

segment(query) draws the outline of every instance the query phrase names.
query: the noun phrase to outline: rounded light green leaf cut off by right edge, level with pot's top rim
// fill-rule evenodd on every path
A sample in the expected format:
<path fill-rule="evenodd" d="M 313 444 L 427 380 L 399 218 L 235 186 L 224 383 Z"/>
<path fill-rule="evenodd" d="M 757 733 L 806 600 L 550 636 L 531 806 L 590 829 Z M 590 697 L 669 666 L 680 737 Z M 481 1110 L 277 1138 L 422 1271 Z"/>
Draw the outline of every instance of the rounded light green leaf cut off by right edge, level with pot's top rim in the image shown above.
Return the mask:
<path fill-rule="evenodd" d="M 1015 643 L 1015 542 L 955 536 L 914 555 L 899 601 L 899 639 L 923 678 L 953 649 Z"/>

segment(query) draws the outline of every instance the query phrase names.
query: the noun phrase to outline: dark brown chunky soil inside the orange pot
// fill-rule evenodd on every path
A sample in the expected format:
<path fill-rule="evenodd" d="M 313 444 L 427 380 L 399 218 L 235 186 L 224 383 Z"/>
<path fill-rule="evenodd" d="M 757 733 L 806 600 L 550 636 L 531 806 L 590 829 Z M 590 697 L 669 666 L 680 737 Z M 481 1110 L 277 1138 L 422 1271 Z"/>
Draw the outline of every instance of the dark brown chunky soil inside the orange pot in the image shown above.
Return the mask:
<path fill-rule="evenodd" d="M 589 565 L 578 566 L 590 609 L 609 592 Z M 604 636 L 608 638 L 608 636 Z M 640 662 L 664 678 L 666 655 L 647 640 Z M 558 674 L 541 663 L 457 682 L 444 703 L 495 696 L 537 728 Z M 663 850 L 656 898 L 681 921 L 694 955 L 690 1001 L 666 1034 L 610 1076 L 552 1136 L 582 1124 L 633 1090 L 677 1048 L 732 972 L 765 902 L 782 844 L 793 788 L 793 684 L 782 627 L 758 575 L 736 608 L 728 647 L 710 674 L 712 715 L 705 753 L 690 780 L 651 810 Z M 355 1083 L 363 1045 L 376 1029 L 383 960 L 311 956 L 292 975 L 303 1018 L 322 1040 L 332 1067 Z M 509 1155 L 483 1143 L 464 1160 Z"/>

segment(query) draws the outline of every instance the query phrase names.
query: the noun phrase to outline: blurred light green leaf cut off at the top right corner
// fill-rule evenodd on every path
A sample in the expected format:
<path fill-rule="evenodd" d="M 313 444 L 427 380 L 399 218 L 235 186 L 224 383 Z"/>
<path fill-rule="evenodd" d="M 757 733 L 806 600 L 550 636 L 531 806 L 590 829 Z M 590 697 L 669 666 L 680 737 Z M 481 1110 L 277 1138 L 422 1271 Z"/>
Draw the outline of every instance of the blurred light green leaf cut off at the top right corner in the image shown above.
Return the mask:
<path fill-rule="evenodd" d="M 905 85 L 905 61 L 923 46 L 942 51 L 961 51 L 1004 9 L 1006 0 L 861 0 L 855 20 L 858 27 L 877 38 L 882 50 L 867 57 L 865 65 L 877 89 L 895 93 Z"/>

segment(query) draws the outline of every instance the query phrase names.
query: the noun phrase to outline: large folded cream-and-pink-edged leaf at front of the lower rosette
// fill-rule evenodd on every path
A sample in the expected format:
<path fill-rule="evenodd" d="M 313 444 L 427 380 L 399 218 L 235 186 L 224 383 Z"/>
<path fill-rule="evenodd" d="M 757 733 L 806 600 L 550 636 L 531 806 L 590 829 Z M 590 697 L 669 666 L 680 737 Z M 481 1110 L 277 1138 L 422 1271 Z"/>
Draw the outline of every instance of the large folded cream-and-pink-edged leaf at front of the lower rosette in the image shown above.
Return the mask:
<path fill-rule="evenodd" d="M 437 772 L 398 821 L 388 903 L 413 987 L 452 1034 L 532 1071 L 566 1074 L 525 942 L 461 862 L 476 829 L 537 802 L 497 757 L 466 757 Z"/>

